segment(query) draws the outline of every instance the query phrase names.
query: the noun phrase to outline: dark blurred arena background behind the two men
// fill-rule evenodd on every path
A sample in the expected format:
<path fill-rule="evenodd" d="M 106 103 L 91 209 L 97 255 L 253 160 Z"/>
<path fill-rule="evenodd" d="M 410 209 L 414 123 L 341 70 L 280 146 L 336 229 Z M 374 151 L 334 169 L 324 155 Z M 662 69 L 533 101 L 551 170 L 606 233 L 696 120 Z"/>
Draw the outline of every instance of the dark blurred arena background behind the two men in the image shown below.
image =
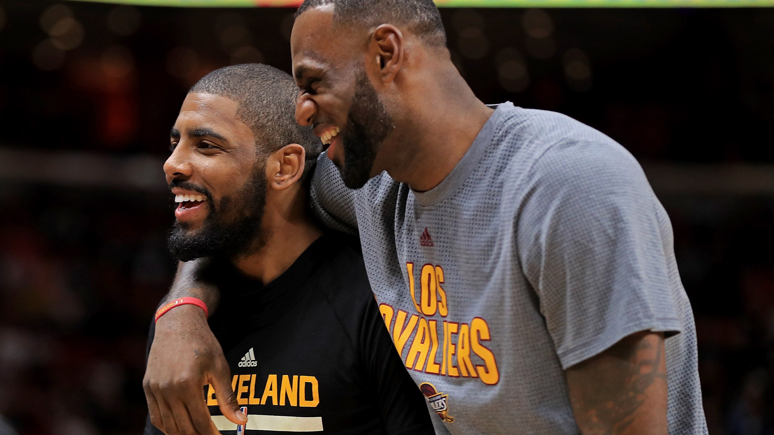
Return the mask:
<path fill-rule="evenodd" d="M 639 159 L 673 221 L 711 433 L 774 433 L 774 9 L 441 12 L 483 101 L 563 112 Z M 288 70 L 292 17 L 0 0 L 0 434 L 141 433 L 173 276 L 170 126 L 210 70 Z"/>

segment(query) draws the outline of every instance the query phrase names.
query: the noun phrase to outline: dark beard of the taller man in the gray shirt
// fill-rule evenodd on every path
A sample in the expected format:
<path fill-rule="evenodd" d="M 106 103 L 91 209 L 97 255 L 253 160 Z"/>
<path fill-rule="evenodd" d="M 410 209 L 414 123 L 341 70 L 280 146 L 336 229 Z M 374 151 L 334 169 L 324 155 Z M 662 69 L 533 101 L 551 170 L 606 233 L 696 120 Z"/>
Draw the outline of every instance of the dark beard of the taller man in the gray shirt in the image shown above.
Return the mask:
<path fill-rule="evenodd" d="M 365 186 L 371 178 L 376 152 L 395 125 L 376 94 L 365 70 L 358 71 L 354 98 L 347 114 L 347 126 L 341 132 L 344 168 L 341 179 L 350 189 Z"/>

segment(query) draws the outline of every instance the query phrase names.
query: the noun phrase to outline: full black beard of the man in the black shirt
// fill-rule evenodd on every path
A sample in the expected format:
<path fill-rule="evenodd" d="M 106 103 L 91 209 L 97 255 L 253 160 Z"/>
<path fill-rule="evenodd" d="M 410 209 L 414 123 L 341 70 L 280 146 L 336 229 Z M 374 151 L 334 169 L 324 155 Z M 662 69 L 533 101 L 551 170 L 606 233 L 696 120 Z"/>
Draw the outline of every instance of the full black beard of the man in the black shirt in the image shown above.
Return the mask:
<path fill-rule="evenodd" d="M 233 259 L 262 248 L 265 240 L 259 226 L 266 204 L 266 179 L 263 170 L 255 170 L 233 197 L 223 197 L 215 204 L 209 191 L 193 183 L 174 181 L 170 187 L 183 187 L 207 196 L 210 213 L 199 231 L 191 232 L 175 222 L 167 238 L 170 254 L 181 262 L 203 257 L 222 256 Z"/>

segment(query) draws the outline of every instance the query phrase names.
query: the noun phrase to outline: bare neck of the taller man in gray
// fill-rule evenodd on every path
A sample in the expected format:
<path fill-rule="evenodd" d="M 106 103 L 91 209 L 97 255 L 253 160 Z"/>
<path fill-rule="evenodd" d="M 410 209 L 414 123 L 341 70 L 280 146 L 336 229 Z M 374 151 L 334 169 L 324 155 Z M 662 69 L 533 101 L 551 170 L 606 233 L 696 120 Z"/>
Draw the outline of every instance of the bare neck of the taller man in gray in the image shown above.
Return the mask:
<path fill-rule="evenodd" d="M 440 64 L 413 84 L 421 91 L 413 93 L 400 122 L 407 128 L 391 141 L 395 149 L 387 150 L 390 156 L 406 156 L 389 166 L 389 175 L 418 191 L 433 189 L 454 170 L 494 112 L 476 98 L 454 63 Z"/>

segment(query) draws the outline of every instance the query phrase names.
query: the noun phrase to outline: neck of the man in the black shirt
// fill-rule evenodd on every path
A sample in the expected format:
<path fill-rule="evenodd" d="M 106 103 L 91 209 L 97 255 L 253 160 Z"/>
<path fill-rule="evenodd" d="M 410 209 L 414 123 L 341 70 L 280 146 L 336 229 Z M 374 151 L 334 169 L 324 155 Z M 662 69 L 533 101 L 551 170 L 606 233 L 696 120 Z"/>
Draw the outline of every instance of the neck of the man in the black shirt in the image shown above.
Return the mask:
<path fill-rule="evenodd" d="M 255 253 L 233 259 L 237 269 L 264 285 L 271 283 L 323 234 L 307 213 L 306 197 L 306 191 L 300 187 L 294 192 L 266 192 L 261 221 L 265 245 Z"/>

